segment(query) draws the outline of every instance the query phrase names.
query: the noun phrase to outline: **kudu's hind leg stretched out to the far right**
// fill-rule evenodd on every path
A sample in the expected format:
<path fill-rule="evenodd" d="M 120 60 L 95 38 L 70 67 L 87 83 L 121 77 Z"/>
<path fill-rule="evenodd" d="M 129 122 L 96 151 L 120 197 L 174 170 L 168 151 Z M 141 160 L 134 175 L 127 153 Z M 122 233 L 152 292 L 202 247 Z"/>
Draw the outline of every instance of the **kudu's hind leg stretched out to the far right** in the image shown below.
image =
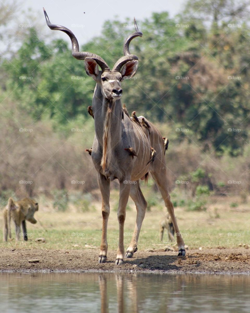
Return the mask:
<path fill-rule="evenodd" d="M 168 209 L 168 213 L 169 213 L 170 218 L 172 220 L 173 228 L 174 228 L 174 231 L 176 233 L 178 249 L 179 249 L 178 255 L 184 256 L 186 254 L 185 248 L 184 248 L 184 241 L 183 241 L 182 236 L 179 232 L 177 221 L 176 221 L 176 218 L 174 215 L 173 203 L 171 202 L 170 195 L 168 193 L 168 180 L 167 180 L 166 170 L 163 168 L 163 169 L 161 169 L 161 171 L 155 171 L 155 172 L 150 171 L 150 173 L 152 174 L 153 179 L 157 184 L 159 192 L 161 193 L 161 195 L 163 197 L 165 206 Z"/>

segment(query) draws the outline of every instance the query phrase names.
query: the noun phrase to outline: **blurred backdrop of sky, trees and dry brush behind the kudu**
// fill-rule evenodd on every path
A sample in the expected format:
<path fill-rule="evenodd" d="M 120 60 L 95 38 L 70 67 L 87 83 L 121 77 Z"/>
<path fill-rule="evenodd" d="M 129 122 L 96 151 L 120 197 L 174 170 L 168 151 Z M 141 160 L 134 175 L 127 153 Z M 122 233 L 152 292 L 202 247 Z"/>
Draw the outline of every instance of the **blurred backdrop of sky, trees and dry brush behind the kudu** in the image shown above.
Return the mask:
<path fill-rule="evenodd" d="M 55 210 L 91 210 L 100 201 L 91 148 L 94 81 L 71 55 L 80 51 L 113 64 L 133 32 L 138 72 L 124 80 L 122 102 L 169 138 L 166 153 L 175 206 L 206 210 L 227 199 L 247 204 L 250 192 L 249 1 L 11 1 L 0 3 L 0 202 L 10 196 L 47 199 Z M 144 184 L 144 182 L 143 182 Z M 113 190 L 118 187 L 112 183 Z M 145 188 L 148 209 L 160 197 Z M 237 198 L 236 198 L 237 197 Z M 230 199 L 230 200 L 228 200 Z M 216 211 L 215 211 L 216 217 Z"/>

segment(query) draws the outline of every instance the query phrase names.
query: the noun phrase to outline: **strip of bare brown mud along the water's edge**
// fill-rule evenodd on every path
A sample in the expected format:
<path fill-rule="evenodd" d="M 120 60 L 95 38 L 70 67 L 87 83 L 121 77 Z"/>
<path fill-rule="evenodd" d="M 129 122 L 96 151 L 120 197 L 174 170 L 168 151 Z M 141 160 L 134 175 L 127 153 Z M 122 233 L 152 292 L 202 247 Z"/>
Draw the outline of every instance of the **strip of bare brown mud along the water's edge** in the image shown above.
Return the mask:
<path fill-rule="evenodd" d="M 108 252 L 105 264 L 98 264 L 98 249 L 36 250 L 0 249 L 0 271 L 154 271 L 168 273 L 250 274 L 249 249 L 205 249 L 176 252 L 137 251 L 124 265 L 115 265 L 115 251 Z M 39 259 L 29 263 L 29 259 Z"/>

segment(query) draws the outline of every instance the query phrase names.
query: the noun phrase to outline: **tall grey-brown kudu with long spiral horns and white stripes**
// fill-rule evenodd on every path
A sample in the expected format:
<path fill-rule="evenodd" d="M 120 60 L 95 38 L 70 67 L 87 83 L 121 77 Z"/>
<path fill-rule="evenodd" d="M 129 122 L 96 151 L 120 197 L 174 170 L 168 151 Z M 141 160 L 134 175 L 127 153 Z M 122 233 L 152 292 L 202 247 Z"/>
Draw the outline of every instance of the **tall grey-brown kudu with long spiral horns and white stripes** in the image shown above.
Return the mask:
<path fill-rule="evenodd" d="M 135 37 L 142 37 L 135 22 L 136 32 L 125 40 L 121 57 L 110 70 L 107 63 L 97 54 L 79 52 L 77 38 L 66 27 L 50 23 L 44 10 L 47 25 L 52 30 L 61 30 L 66 33 L 72 43 L 72 55 L 74 58 L 84 59 L 86 73 L 91 76 L 96 87 L 93 95 L 92 110 L 95 123 L 95 137 L 92 146 L 91 157 L 98 172 L 98 184 L 102 194 L 103 231 L 99 254 L 99 263 L 107 260 L 107 227 L 110 212 L 109 196 L 110 182 L 118 179 L 120 183 L 120 198 L 118 204 L 119 245 L 115 264 L 123 264 L 124 244 L 123 229 L 126 216 L 126 205 L 130 196 L 137 210 L 136 225 L 131 243 L 127 249 L 126 258 L 132 258 L 137 251 L 139 232 L 145 216 L 147 202 L 140 189 L 139 180 L 145 179 L 150 172 L 173 221 L 177 234 L 178 255 L 185 255 L 184 242 L 179 233 L 174 215 L 173 204 L 168 193 L 167 169 L 164 158 L 163 137 L 156 127 L 150 123 L 150 134 L 145 127 L 134 123 L 126 114 L 123 114 L 121 96 L 121 82 L 124 78 L 133 77 L 137 71 L 138 57 L 129 51 L 129 44 Z M 101 70 L 98 69 L 98 65 Z M 143 116 L 139 117 L 141 121 Z M 145 119 L 146 120 L 146 119 Z M 125 148 L 133 147 L 137 156 L 133 157 Z M 151 159 L 151 147 L 157 153 L 154 162 Z"/>

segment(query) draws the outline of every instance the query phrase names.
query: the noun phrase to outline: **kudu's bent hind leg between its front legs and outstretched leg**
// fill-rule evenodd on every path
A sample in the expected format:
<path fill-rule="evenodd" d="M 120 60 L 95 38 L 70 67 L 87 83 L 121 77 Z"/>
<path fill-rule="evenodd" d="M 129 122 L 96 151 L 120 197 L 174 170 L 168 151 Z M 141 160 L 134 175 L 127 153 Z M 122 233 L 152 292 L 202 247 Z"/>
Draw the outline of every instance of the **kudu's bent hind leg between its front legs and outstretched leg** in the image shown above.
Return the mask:
<path fill-rule="evenodd" d="M 126 251 L 126 255 L 125 255 L 126 258 L 132 258 L 134 252 L 137 251 L 138 238 L 139 238 L 140 230 L 142 227 L 143 219 L 144 219 L 146 208 L 147 208 L 147 201 L 145 200 L 142 194 L 139 180 L 136 182 L 136 184 L 133 184 L 131 186 L 130 197 L 132 198 L 132 200 L 134 201 L 136 205 L 137 215 L 136 215 L 136 224 L 135 224 L 133 236 L 129 244 L 129 247 Z"/>

